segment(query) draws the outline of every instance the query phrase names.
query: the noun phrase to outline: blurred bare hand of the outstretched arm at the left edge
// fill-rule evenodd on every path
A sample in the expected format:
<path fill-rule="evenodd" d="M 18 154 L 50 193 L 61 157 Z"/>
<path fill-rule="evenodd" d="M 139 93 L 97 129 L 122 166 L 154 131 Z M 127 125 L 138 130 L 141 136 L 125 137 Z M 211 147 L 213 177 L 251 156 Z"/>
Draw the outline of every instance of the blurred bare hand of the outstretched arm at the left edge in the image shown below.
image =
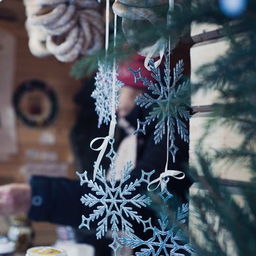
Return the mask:
<path fill-rule="evenodd" d="M 0 215 L 11 215 L 28 211 L 30 203 L 30 185 L 12 183 L 0 186 Z"/>

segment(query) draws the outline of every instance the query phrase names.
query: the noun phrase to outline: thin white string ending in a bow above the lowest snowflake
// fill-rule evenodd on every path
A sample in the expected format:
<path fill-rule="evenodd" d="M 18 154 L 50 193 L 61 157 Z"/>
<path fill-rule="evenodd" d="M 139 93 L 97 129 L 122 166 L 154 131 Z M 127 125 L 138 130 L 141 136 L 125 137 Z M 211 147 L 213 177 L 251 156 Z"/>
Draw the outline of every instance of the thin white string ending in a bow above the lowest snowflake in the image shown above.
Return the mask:
<path fill-rule="evenodd" d="M 167 28 L 170 28 L 171 25 L 171 12 L 173 12 L 174 9 L 174 0 L 169 0 L 169 10 L 167 14 Z M 171 58 L 171 37 L 169 36 L 168 40 L 168 58 L 169 58 L 169 63 L 170 63 L 170 58 Z M 158 64 L 159 65 L 159 64 Z M 170 67 L 168 68 L 168 85 L 167 85 L 167 90 L 168 90 L 168 100 L 167 100 L 167 150 L 166 150 L 166 164 L 165 164 L 165 171 L 160 174 L 160 177 L 158 179 L 155 179 L 154 181 L 151 181 L 148 183 L 148 191 L 154 191 L 156 190 L 159 186 L 161 186 L 161 191 L 165 188 L 165 184 L 169 181 L 169 177 L 173 177 L 175 179 L 184 179 L 185 174 L 182 171 L 177 171 L 177 170 L 168 170 L 168 162 L 169 162 L 169 98 L 170 98 Z M 166 179 L 167 178 L 167 179 Z M 152 184 L 157 184 L 155 188 L 150 188 Z"/>

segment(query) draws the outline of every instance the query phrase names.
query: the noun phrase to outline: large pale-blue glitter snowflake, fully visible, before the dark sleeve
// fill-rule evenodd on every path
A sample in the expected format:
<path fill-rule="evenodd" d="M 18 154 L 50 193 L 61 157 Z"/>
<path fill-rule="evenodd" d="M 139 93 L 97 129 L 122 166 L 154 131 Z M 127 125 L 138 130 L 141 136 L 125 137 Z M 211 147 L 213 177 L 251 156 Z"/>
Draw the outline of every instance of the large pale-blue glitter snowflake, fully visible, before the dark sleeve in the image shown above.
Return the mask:
<path fill-rule="evenodd" d="M 102 169 L 102 166 L 98 168 L 96 174 L 96 181 L 88 179 L 87 171 L 84 173 L 77 173 L 80 178 L 81 186 L 87 184 L 91 188 L 92 193 L 85 194 L 81 197 L 81 203 L 88 207 L 94 207 L 93 213 L 89 217 L 82 216 L 82 223 L 79 228 L 85 226 L 90 229 L 91 222 L 97 220 L 96 238 L 100 239 L 104 236 L 110 227 L 112 230 L 112 238 L 114 242 L 109 246 L 112 247 L 115 254 L 118 249 L 122 247 L 119 242 L 118 232 L 123 231 L 126 234 L 132 234 L 133 224 L 132 221 L 137 221 L 144 226 L 144 230 L 152 228 L 151 219 L 144 221 L 142 216 L 138 215 L 134 207 L 146 207 L 150 205 L 151 200 L 148 196 L 140 195 L 136 193 L 137 188 L 140 187 L 142 182 L 148 184 L 150 176 L 154 171 L 145 173 L 142 171 L 140 179 L 136 179 L 134 182 L 127 182 L 131 173 L 131 161 L 127 162 L 121 173 L 121 180 L 116 181 L 116 171 L 114 160 L 117 157 L 113 148 L 114 139 L 110 140 L 110 152 L 106 154 L 106 157 L 110 159 L 110 181 L 106 181 L 106 171 Z M 135 192 L 133 196 L 132 193 Z"/>

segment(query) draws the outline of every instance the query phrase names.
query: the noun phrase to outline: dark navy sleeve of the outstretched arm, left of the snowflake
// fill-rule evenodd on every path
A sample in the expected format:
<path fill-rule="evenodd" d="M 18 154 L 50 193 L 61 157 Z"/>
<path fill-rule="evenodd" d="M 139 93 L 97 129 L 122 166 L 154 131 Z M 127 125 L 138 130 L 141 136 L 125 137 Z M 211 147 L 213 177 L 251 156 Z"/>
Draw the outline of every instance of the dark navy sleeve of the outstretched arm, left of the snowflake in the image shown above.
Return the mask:
<path fill-rule="evenodd" d="M 30 184 L 30 219 L 76 227 L 81 224 L 84 205 L 80 202 L 83 191 L 78 180 L 34 176 Z"/>

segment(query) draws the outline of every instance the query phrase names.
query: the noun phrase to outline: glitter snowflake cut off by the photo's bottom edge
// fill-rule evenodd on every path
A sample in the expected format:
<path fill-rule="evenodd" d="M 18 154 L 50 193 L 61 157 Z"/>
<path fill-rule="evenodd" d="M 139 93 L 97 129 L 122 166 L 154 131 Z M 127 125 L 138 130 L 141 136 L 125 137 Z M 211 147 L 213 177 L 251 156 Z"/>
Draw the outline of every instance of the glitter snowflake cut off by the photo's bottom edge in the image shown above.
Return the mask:
<path fill-rule="evenodd" d="M 152 228 L 153 235 L 148 240 L 143 240 L 135 234 L 127 234 L 121 237 L 119 241 L 123 245 L 131 246 L 132 249 L 139 247 L 140 251 L 135 253 L 135 255 L 139 256 L 194 255 L 192 247 L 186 242 L 186 230 L 181 228 L 181 225 L 186 223 L 186 218 L 188 217 L 188 203 L 182 204 L 182 207 L 178 208 L 176 220 L 171 224 L 171 228 L 167 229 L 169 216 L 167 215 L 168 206 L 166 203 L 173 195 L 169 193 L 166 186 L 159 195 L 163 201 L 160 219 L 158 219 L 160 228 L 154 226 L 154 228 Z"/>

